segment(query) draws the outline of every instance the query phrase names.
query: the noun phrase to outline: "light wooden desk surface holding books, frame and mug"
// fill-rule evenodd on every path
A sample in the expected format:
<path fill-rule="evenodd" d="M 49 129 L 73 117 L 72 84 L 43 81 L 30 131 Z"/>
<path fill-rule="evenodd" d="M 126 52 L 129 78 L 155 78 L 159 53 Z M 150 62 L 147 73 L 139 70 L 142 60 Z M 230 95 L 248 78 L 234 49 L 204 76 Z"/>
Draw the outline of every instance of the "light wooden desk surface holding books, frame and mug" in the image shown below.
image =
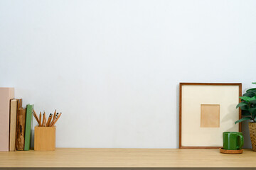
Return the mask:
<path fill-rule="evenodd" d="M 0 167 L 256 167 L 256 152 L 218 149 L 78 149 L 0 152 Z"/>

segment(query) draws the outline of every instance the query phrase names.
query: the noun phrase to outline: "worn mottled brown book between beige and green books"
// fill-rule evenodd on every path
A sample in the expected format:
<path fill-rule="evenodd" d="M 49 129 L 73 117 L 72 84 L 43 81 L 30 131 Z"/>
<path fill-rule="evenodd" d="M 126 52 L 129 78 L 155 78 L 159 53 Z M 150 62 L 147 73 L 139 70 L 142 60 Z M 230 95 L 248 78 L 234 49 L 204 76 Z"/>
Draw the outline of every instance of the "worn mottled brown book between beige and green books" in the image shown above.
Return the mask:
<path fill-rule="evenodd" d="M 17 128 L 17 150 L 24 150 L 24 135 L 26 122 L 26 108 L 18 109 L 18 128 Z"/>

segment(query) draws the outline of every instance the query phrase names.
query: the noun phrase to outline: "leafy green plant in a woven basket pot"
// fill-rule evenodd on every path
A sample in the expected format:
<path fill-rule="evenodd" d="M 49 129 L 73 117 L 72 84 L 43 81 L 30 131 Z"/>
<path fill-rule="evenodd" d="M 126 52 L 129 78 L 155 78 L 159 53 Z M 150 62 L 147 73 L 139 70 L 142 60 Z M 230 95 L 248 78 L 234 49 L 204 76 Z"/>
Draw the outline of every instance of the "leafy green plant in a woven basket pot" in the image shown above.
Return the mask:
<path fill-rule="evenodd" d="M 256 82 L 252 84 L 256 84 Z M 241 102 L 236 108 L 240 108 L 242 110 L 242 115 L 244 117 L 237 120 L 235 124 L 244 120 L 250 120 L 249 130 L 252 150 L 256 151 L 256 88 L 248 89 L 246 93 L 239 98 L 241 98 Z"/>

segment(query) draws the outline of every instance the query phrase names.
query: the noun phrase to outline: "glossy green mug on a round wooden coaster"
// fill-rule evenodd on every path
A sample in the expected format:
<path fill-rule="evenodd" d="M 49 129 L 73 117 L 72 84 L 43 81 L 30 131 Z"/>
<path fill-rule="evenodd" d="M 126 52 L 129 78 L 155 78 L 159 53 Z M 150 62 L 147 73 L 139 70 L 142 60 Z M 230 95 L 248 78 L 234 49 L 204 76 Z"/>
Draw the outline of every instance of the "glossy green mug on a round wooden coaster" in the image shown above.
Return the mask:
<path fill-rule="evenodd" d="M 242 149 L 243 143 L 242 132 L 223 132 L 223 149 Z"/>

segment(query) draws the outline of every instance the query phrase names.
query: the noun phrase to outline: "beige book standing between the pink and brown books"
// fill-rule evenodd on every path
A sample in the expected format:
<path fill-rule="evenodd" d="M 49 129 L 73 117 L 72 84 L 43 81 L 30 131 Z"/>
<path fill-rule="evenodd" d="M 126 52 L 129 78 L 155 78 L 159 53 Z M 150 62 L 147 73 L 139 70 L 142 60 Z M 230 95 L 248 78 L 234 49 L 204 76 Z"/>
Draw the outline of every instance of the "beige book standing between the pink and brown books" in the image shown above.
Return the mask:
<path fill-rule="evenodd" d="M 17 100 L 11 100 L 11 110 L 10 110 L 10 145 L 9 151 L 15 151 L 16 142 L 16 120 L 17 120 Z"/>

